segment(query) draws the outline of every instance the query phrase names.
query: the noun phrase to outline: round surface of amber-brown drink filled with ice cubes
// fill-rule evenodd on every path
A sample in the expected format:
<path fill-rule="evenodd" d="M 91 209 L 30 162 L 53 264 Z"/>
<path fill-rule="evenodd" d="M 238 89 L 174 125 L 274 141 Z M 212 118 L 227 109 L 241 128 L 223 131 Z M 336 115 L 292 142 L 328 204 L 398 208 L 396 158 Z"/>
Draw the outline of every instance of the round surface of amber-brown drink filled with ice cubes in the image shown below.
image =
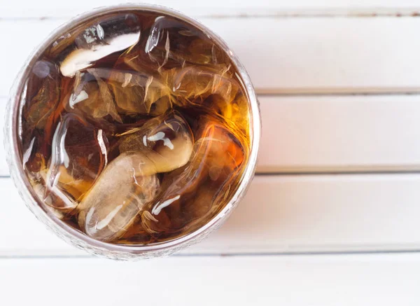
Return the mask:
<path fill-rule="evenodd" d="M 244 85 L 209 35 L 126 11 L 75 25 L 20 99 L 22 167 L 39 202 L 103 242 L 153 244 L 209 222 L 251 146 Z"/>

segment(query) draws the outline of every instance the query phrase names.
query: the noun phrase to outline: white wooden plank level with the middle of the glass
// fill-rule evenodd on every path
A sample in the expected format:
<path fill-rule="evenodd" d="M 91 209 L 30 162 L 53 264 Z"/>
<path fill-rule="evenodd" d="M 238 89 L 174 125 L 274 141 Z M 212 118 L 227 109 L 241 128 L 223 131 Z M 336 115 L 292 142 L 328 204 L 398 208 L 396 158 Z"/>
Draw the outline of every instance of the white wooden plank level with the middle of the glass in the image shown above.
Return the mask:
<path fill-rule="evenodd" d="M 260 105 L 260 173 L 420 170 L 420 95 L 260 97 Z"/>

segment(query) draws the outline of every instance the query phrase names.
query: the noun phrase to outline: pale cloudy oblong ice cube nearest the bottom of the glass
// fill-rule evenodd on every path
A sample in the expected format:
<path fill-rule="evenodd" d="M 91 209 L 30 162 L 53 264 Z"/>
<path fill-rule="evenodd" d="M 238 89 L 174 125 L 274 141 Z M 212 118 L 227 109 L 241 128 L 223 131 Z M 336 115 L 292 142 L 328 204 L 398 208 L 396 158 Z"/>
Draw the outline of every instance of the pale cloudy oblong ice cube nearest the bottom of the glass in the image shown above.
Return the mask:
<path fill-rule="evenodd" d="M 158 192 L 155 173 L 154 165 L 142 153 L 119 155 L 80 202 L 80 228 L 94 239 L 118 239 Z"/>

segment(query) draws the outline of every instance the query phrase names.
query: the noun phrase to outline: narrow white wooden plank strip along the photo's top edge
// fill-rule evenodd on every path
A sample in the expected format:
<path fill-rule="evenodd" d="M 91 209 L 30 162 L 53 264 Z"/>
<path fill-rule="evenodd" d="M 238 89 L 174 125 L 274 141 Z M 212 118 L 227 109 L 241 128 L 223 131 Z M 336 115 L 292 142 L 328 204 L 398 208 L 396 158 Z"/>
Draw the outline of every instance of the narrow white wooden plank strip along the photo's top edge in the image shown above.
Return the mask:
<path fill-rule="evenodd" d="M 75 0 L 51 1 L 40 0 L 34 4 L 30 0 L 10 3 L 1 8 L 0 18 L 57 18 L 71 17 L 92 8 L 120 4 L 118 0 Z M 415 13 L 419 2 L 415 0 L 296 0 L 287 1 L 260 0 L 214 0 L 191 3 L 188 0 L 151 0 L 149 4 L 168 6 L 188 15 L 312 15 L 312 14 L 356 14 L 373 15 L 380 13 L 404 14 Z"/>

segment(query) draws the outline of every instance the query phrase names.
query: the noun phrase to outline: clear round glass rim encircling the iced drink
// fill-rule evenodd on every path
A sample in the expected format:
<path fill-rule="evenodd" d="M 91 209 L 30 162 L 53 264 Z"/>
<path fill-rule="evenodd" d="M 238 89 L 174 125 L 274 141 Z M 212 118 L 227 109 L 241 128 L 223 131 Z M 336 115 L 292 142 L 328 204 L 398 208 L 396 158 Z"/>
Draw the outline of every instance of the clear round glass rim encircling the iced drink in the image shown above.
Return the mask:
<path fill-rule="evenodd" d="M 47 211 L 43 205 L 38 200 L 34 189 L 29 183 L 27 176 L 22 167 L 22 160 L 20 159 L 20 150 L 18 147 L 18 114 L 20 106 L 20 97 L 25 85 L 25 80 L 33 67 L 34 62 L 38 59 L 38 56 L 41 55 L 46 48 L 48 48 L 60 34 L 66 32 L 76 25 L 80 25 L 85 20 L 94 18 L 95 16 L 104 15 L 106 13 L 122 13 L 124 11 L 132 10 L 141 10 L 141 11 L 151 11 L 154 13 L 163 13 L 175 18 L 179 18 L 183 21 L 190 23 L 191 25 L 200 29 L 200 31 L 209 35 L 215 43 L 220 46 L 225 53 L 228 55 L 232 64 L 235 65 L 237 73 L 239 74 L 239 80 L 243 82 L 244 90 L 248 97 L 248 106 L 250 107 L 250 127 L 249 132 L 251 136 L 251 150 L 248 158 L 247 165 L 242 174 L 241 182 L 237 187 L 237 190 L 225 207 L 221 209 L 213 218 L 211 218 L 207 223 L 202 225 L 197 230 L 190 232 L 188 235 L 178 237 L 176 239 L 168 240 L 165 242 L 159 242 L 155 244 L 138 244 L 138 245 L 125 245 L 125 244 L 112 244 L 109 242 L 101 242 L 97 239 L 93 239 L 83 232 L 72 228 L 70 225 L 67 225 L 62 220 L 60 220 L 55 214 L 51 211 Z M 6 120 L 5 120 L 5 146 L 6 146 L 6 157 L 8 162 L 8 167 L 10 169 L 10 176 L 12 176 L 13 181 L 15 182 L 16 187 L 18 188 L 21 197 L 25 201 L 25 204 L 29 209 L 36 215 L 37 218 L 41 219 L 42 223 L 45 223 L 50 228 L 52 228 L 57 235 L 62 237 L 66 242 L 71 240 L 71 244 L 85 248 L 90 248 L 93 253 L 101 254 L 102 251 L 111 251 L 114 253 L 132 253 L 132 254 L 144 254 L 153 251 L 165 251 L 167 249 L 176 248 L 176 246 L 182 246 L 183 244 L 188 244 L 188 242 L 193 241 L 195 238 L 204 235 L 205 232 L 215 228 L 216 225 L 223 221 L 227 217 L 232 209 L 236 207 L 236 204 L 244 197 L 246 189 L 250 185 L 253 175 L 255 173 L 256 162 L 258 158 L 258 148 L 260 144 L 260 134 L 261 134 L 261 118 L 260 118 L 260 109 L 259 102 L 255 95 L 255 90 L 251 83 L 251 78 L 248 76 L 246 69 L 239 62 L 239 59 L 228 47 L 228 45 L 221 39 L 218 34 L 212 32 L 209 28 L 202 25 L 201 22 L 190 18 L 179 11 L 176 11 L 172 8 L 167 8 L 164 6 L 158 6 L 153 4 L 118 4 L 115 6 L 104 6 L 100 8 L 94 8 L 93 10 L 87 11 L 80 15 L 77 15 L 74 18 L 64 22 L 63 25 L 60 25 L 55 30 L 53 30 L 29 55 L 25 64 L 23 65 L 20 73 L 15 78 L 13 87 L 10 90 L 8 107 L 6 109 Z M 30 206 L 29 206 L 30 204 Z M 52 224 L 48 221 L 51 221 Z M 76 239 L 76 241 L 74 240 Z M 101 251 L 102 250 L 102 251 Z M 103 255 L 103 253 L 102 253 Z M 118 257 L 118 256 L 117 256 Z"/>

